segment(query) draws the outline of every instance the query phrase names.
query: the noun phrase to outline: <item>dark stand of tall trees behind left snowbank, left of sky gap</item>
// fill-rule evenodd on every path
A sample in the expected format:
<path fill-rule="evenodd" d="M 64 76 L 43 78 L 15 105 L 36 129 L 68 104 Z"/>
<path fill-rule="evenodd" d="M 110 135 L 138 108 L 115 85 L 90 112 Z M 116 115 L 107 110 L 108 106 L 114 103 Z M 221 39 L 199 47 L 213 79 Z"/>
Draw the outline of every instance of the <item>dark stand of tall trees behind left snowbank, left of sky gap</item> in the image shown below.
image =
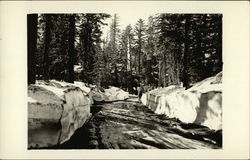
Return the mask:
<path fill-rule="evenodd" d="M 37 79 L 67 82 L 96 79 L 102 54 L 101 27 L 108 14 L 42 14 L 38 16 Z M 74 73 L 74 65 L 82 67 Z M 99 71 L 99 70 L 97 70 Z"/>

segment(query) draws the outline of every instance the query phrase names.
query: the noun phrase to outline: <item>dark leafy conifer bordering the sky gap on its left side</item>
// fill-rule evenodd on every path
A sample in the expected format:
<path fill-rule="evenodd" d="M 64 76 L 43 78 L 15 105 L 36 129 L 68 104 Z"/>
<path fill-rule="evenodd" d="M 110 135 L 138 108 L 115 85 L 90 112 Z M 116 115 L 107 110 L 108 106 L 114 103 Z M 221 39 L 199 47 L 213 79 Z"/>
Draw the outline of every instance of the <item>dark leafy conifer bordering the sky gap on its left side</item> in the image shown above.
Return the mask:
<path fill-rule="evenodd" d="M 99 57 L 97 54 L 102 52 L 100 47 L 101 26 L 106 25 L 104 20 L 109 17 L 110 15 L 101 13 L 80 15 L 80 49 L 78 55 L 83 65 L 82 80 L 84 82 L 93 83 L 96 79 L 95 63 L 98 60 L 97 57 Z"/>

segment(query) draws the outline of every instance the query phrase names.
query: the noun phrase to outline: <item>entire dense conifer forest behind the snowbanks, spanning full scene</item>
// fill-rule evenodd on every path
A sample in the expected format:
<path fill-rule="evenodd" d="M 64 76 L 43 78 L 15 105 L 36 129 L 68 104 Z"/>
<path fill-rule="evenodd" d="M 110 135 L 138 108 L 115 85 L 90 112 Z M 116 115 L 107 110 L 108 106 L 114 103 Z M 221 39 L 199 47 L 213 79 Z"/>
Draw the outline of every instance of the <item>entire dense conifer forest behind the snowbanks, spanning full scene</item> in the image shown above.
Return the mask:
<path fill-rule="evenodd" d="M 112 23 L 102 39 L 107 18 Z M 124 30 L 117 14 L 41 14 L 28 22 L 36 20 L 29 26 L 37 32 L 36 43 L 29 44 L 36 46 L 29 51 L 36 50 L 29 55 L 36 79 L 80 80 L 133 92 L 140 83 L 189 87 L 222 70 L 220 14 L 156 14 Z"/>

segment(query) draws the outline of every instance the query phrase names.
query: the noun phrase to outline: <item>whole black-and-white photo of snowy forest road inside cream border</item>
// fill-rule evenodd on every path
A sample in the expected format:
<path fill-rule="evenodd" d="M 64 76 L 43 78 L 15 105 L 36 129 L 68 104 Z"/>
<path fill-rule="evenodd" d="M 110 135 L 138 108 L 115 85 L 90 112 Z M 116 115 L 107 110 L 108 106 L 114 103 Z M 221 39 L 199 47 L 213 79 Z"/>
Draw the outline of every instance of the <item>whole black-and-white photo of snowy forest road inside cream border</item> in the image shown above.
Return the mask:
<path fill-rule="evenodd" d="M 28 149 L 222 149 L 222 14 L 28 14 Z"/>

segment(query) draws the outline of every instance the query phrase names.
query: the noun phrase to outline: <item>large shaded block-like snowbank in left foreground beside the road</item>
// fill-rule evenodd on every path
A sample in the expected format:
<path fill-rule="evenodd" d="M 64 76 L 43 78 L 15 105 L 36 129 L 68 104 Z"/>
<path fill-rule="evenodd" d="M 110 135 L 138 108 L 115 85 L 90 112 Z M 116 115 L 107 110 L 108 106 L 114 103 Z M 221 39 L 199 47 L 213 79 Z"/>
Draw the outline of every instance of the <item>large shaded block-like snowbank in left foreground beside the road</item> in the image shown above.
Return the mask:
<path fill-rule="evenodd" d="M 90 99 L 66 82 L 38 81 L 28 86 L 28 147 L 67 141 L 91 116 Z"/>

